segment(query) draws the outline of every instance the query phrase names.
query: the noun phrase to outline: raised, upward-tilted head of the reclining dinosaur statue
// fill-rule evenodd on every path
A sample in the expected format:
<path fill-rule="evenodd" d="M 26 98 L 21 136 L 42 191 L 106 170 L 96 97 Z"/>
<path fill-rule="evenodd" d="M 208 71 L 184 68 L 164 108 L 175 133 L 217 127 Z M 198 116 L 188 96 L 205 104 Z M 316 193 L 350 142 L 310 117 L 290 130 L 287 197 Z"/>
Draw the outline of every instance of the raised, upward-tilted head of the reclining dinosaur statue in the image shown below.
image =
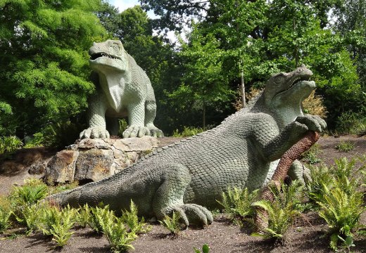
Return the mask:
<path fill-rule="evenodd" d="M 305 65 L 289 73 L 272 75 L 265 85 L 265 103 L 274 110 L 286 106 L 300 108 L 301 102 L 315 89 L 315 82 L 309 80 L 312 75 Z"/>

